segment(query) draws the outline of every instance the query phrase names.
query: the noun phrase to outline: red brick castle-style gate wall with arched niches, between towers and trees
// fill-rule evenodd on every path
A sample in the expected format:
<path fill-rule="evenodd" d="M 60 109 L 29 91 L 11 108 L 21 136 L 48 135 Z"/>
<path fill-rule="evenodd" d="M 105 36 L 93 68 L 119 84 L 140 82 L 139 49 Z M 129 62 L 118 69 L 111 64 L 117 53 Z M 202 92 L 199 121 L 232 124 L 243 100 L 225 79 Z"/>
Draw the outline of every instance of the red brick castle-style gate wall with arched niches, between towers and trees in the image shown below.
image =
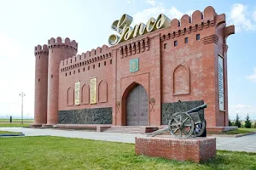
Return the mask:
<path fill-rule="evenodd" d="M 56 102 L 58 111 L 112 107 L 113 125 L 126 125 L 125 99 L 132 88 L 141 84 L 148 94 L 148 126 L 161 125 L 162 103 L 178 100 L 204 100 L 208 105 L 207 125 L 228 126 L 225 39 L 232 33 L 234 26 L 225 26 L 224 14 L 216 14 L 214 8 L 207 7 L 203 12 L 195 11 L 191 18 L 183 15 L 181 22 L 172 20 L 168 28 L 65 58 L 59 65 L 58 87 L 49 83 L 49 90 L 55 93 L 50 93 L 48 107 L 54 104 L 55 108 Z M 225 111 L 218 109 L 218 54 L 224 56 Z M 130 60 L 137 58 L 139 70 L 130 72 Z M 91 77 L 97 78 L 97 102 L 93 105 Z M 73 104 L 77 81 L 81 82 L 80 105 Z M 48 115 L 49 119 L 57 119 L 55 113 Z"/>

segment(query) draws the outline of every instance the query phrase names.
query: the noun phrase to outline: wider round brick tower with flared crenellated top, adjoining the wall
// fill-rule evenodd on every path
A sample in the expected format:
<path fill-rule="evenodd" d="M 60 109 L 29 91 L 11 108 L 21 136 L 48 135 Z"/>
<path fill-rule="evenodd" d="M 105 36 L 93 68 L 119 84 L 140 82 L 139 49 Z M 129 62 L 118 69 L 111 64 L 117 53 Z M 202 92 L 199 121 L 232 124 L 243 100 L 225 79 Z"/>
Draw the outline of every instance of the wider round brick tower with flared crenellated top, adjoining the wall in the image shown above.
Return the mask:
<path fill-rule="evenodd" d="M 48 104 L 47 125 L 58 123 L 59 104 L 59 65 L 61 60 L 77 54 L 78 43 L 69 38 L 62 41 L 61 37 L 50 38 L 48 41 L 49 65 L 48 65 Z"/>

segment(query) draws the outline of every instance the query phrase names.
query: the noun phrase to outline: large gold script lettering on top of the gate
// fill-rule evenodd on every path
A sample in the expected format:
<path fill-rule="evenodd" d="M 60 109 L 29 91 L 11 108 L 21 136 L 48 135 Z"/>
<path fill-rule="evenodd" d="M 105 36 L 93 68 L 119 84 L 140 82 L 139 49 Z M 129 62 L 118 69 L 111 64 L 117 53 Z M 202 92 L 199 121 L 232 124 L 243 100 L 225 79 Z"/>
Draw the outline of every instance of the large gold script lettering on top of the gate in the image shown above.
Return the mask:
<path fill-rule="evenodd" d="M 129 16 L 128 14 L 123 14 L 120 20 L 113 21 L 111 29 L 113 31 L 117 31 L 117 33 L 120 35 L 111 35 L 108 38 L 108 43 L 110 45 L 115 45 L 119 42 L 124 42 L 133 37 L 142 36 L 143 34 L 146 34 L 151 31 L 166 28 L 171 24 L 171 20 L 168 17 L 166 17 L 165 14 L 160 14 L 156 20 L 153 17 L 151 17 L 148 20 L 147 25 L 141 22 L 139 25 L 135 25 L 134 28 L 130 26 L 132 20 L 133 19 L 131 16 Z"/>

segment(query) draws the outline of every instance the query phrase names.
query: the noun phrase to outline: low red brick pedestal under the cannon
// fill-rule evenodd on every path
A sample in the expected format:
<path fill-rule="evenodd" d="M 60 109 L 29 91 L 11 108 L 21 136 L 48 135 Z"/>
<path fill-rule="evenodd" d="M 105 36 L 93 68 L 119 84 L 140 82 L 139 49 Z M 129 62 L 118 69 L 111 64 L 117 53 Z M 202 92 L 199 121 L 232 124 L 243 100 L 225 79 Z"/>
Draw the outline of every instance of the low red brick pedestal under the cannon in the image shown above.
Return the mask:
<path fill-rule="evenodd" d="M 177 161 L 207 161 L 216 156 L 215 138 L 173 139 L 164 137 L 136 137 L 137 155 L 164 157 Z"/>

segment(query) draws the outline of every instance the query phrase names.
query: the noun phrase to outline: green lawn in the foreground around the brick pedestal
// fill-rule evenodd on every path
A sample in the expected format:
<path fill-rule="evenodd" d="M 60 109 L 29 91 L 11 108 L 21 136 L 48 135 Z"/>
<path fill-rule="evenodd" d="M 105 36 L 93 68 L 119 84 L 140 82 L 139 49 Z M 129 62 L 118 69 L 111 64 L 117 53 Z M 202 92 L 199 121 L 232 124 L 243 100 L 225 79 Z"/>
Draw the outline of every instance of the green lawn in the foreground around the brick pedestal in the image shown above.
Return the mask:
<path fill-rule="evenodd" d="M 134 144 L 22 137 L 0 140 L 0 169 L 255 169 L 256 154 L 218 150 L 201 164 L 136 156 Z"/>

